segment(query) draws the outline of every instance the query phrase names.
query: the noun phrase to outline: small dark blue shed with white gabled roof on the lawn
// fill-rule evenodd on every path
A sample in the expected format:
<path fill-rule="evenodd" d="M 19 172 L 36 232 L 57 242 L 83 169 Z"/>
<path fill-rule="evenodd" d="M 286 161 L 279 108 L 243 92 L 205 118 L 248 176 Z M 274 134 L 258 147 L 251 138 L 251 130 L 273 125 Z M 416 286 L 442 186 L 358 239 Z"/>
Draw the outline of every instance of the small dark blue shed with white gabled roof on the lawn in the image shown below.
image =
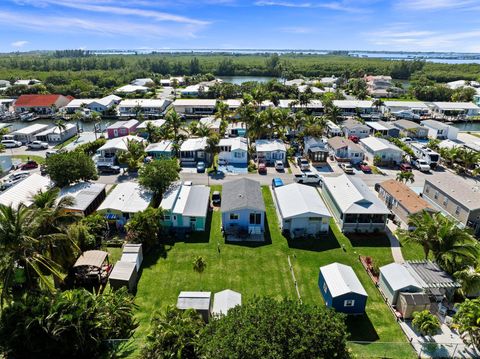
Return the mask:
<path fill-rule="evenodd" d="M 367 292 L 352 267 L 331 263 L 320 267 L 318 287 L 327 307 L 346 314 L 363 314 Z"/>

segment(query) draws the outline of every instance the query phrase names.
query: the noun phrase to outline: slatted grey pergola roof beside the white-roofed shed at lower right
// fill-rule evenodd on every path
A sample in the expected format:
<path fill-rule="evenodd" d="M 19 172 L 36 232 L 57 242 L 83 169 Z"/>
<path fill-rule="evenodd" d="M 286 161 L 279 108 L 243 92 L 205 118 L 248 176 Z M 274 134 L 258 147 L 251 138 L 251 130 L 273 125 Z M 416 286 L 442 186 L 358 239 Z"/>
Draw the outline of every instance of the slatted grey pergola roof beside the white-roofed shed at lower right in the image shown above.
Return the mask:
<path fill-rule="evenodd" d="M 438 264 L 431 261 L 407 261 L 407 270 L 422 288 L 459 288 L 460 285 Z"/>

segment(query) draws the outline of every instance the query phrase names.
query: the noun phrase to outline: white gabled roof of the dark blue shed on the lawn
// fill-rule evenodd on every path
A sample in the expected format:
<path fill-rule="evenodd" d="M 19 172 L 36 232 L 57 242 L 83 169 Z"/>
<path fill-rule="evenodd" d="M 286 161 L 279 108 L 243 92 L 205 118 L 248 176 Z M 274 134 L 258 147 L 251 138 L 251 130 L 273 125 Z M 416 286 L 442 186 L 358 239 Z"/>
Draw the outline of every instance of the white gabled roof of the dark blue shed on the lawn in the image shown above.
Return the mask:
<path fill-rule="evenodd" d="M 320 272 L 333 298 L 348 293 L 357 293 L 368 297 L 352 267 L 335 262 L 320 267 Z"/>

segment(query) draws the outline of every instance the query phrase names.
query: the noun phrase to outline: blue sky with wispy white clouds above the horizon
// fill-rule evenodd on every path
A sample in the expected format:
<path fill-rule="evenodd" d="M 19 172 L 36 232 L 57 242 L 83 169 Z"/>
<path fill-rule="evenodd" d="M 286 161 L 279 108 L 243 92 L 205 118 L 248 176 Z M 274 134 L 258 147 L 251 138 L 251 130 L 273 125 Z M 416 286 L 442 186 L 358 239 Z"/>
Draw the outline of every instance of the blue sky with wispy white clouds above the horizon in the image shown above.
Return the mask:
<path fill-rule="evenodd" d="M 480 52 L 480 0 L 0 0 L 0 51 Z"/>

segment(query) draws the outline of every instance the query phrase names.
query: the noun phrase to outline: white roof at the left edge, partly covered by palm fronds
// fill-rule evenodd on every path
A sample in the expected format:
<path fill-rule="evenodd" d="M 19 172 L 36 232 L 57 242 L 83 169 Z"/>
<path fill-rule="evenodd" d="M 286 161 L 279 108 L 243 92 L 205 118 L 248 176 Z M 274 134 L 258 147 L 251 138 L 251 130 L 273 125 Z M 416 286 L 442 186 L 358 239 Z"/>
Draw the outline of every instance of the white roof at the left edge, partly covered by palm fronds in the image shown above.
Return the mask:
<path fill-rule="evenodd" d="M 32 198 L 39 191 L 46 191 L 53 186 L 50 178 L 43 177 L 38 173 L 32 173 L 24 180 L 10 187 L 0 194 L 0 204 L 17 208 L 20 203 L 29 207 Z"/>

